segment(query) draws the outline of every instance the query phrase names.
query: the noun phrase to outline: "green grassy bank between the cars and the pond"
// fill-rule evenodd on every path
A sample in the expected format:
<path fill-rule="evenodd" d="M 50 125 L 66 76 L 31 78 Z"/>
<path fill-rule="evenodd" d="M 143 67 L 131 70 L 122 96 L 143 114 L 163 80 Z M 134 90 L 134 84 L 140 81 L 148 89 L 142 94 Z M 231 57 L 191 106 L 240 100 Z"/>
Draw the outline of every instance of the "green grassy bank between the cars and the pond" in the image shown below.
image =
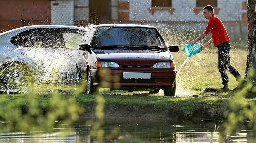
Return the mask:
<path fill-rule="evenodd" d="M 62 86 L 57 93 L 33 95 L 36 106 L 42 114 L 51 110 L 53 98 L 59 95 L 61 101 L 74 100 L 74 104 L 85 110 L 80 117 L 94 118 L 97 95 L 77 94 L 75 85 Z M 225 119 L 224 112 L 229 110 L 228 102 L 234 93 L 216 94 L 211 92 L 198 92 L 199 97 L 192 95 L 184 97 L 166 97 L 163 93 L 149 94 L 148 92 L 125 92 L 101 89 L 105 103 L 106 118 L 132 118 L 132 119 Z M 3 94 L 1 107 L 12 103 L 15 108 L 27 113 L 30 108 L 30 95 Z M 3 100 L 5 99 L 5 100 Z M 255 98 L 247 99 L 247 104 L 256 102 Z"/>

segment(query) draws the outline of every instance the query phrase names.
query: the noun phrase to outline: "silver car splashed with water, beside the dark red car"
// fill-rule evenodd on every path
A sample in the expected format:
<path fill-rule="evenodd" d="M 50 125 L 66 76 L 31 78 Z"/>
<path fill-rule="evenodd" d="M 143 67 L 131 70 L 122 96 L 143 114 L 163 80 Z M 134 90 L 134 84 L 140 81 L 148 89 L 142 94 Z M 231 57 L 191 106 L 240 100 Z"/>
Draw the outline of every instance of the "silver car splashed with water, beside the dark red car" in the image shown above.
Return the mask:
<path fill-rule="evenodd" d="M 30 81 L 49 85 L 75 79 L 77 57 L 83 53 L 77 49 L 87 32 L 75 26 L 34 25 L 0 33 L 0 90 L 20 91 Z"/>

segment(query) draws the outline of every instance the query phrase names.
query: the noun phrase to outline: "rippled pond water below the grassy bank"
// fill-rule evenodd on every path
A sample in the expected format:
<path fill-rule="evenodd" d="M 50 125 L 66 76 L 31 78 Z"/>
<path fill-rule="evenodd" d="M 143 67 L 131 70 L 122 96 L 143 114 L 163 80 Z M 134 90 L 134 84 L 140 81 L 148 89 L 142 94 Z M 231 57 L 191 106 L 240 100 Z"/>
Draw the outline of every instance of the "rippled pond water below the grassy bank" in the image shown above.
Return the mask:
<path fill-rule="evenodd" d="M 103 142 L 218 142 L 223 130 L 223 121 L 174 121 L 174 120 L 106 120 L 101 129 Z M 248 122 L 240 122 L 246 125 Z M 0 134 L 0 142 L 86 142 L 97 141 L 92 135 L 92 126 L 81 120 L 76 123 L 53 128 L 52 131 L 19 132 L 9 131 Z M 60 131 L 62 129 L 62 131 Z M 67 129 L 73 131 L 67 136 L 61 133 Z M 116 132 L 115 132 L 116 131 Z M 255 131 L 244 128 L 234 135 L 226 135 L 226 142 L 253 142 Z"/>

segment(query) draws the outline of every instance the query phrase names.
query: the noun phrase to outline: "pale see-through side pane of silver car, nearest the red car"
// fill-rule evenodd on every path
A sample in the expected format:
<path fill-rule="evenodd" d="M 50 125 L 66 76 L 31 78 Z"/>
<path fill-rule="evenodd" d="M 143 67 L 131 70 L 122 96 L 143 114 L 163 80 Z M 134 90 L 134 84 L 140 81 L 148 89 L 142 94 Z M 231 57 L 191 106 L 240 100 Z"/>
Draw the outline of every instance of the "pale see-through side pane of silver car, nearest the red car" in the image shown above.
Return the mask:
<path fill-rule="evenodd" d="M 82 43 L 83 36 L 77 33 L 62 33 L 65 47 L 67 49 L 77 49 Z"/>

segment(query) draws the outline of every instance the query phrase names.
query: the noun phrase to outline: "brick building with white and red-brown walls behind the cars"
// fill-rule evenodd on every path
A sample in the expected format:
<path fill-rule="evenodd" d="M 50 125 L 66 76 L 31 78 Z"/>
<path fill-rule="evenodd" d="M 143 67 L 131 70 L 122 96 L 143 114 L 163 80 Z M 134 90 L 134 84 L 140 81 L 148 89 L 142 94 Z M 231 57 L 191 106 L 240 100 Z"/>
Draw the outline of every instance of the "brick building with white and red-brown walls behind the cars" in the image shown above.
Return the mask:
<path fill-rule="evenodd" d="M 206 23 L 208 4 L 230 26 L 247 25 L 246 0 L 0 0 L 0 33 L 36 24 Z"/>

